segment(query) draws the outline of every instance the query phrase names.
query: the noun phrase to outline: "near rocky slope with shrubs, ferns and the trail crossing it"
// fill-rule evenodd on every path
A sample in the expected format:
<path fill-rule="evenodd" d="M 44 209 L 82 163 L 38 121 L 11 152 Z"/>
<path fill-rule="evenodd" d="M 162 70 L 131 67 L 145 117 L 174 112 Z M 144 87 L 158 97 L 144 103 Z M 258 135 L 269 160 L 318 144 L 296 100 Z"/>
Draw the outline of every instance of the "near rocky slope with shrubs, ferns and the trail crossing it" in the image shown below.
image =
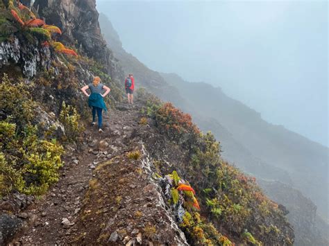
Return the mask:
<path fill-rule="evenodd" d="M 62 31 L 18 1 L 0 1 L 0 68 L 8 73 L 0 84 L 1 244 L 22 227 L 16 245 L 294 243 L 286 209 L 223 161 L 219 143 L 188 114 L 144 90 L 137 105 L 120 103 L 112 52 L 93 58 L 90 49 L 102 51 L 84 44 L 90 35 L 101 44 L 99 33 L 83 28 L 86 40 L 69 41 L 81 38 L 70 27 L 81 30 L 94 1 L 42 3 L 38 14 Z M 103 134 L 81 120 L 90 112 L 79 88 L 94 75 L 112 89 Z"/>

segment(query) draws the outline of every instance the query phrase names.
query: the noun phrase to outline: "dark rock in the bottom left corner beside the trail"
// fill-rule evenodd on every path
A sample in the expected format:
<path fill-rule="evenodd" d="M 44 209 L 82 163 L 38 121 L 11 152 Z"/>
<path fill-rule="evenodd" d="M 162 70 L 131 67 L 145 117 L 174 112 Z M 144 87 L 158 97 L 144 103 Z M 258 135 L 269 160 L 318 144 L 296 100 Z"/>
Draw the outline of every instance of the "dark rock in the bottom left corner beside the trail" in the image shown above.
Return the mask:
<path fill-rule="evenodd" d="M 22 220 L 7 213 L 0 215 L 0 245 L 6 245 L 22 226 Z"/>

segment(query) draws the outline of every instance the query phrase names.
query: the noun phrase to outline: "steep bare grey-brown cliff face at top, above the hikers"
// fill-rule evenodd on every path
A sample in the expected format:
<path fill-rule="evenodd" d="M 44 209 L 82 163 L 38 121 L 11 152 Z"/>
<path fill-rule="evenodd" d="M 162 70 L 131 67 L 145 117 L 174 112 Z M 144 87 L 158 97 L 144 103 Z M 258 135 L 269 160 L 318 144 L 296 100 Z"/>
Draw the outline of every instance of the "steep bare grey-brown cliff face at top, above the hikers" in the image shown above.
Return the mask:
<path fill-rule="evenodd" d="M 62 30 L 62 42 L 76 45 L 103 64 L 112 78 L 123 80 L 124 73 L 101 35 L 95 0 L 37 0 L 34 7 L 47 23 Z"/>

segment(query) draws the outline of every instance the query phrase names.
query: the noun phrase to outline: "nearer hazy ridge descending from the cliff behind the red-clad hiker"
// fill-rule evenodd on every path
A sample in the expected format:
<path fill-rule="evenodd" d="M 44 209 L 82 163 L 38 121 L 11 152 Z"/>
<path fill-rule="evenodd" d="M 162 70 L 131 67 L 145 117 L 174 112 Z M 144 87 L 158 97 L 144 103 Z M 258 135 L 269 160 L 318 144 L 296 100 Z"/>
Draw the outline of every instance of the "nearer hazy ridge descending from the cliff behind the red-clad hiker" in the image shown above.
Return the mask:
<path fill-rule="evenodd" d="M 162 100 L 174 103 L 174 105 L 180 107 L 185 112 L 193 114 L 194 120 L 198 123 L 201 130 L 211 130 L 218 139 L 221 139 L 221 143 L 223 143 L 223 157 L 228 157 L 228 160 L 233 161 L 244 171 L 253 173 L 256 177 L 269 179 L 282 177 L 285 182 L 291 182 L 285 171 L 280 170 L 280 168 L 273 168 L 251 155 L 251 152 L 239 144 L 233 138 L 233 134 L 223 127 L 217 119 L 205 116 L 202 114 L 202 110 L 194 110 L 194 106 L 189 101 L 189 98 L 180 95 L 182 90 L 178 89 L 175 83 L 169 84 L 167 80 L 162 78 L 163 76 L 160 76 L 160 73 L 152 71 L 133 55 L 126 53 L 122 48 L 119 35 L 117 35 L 106 15 L 100 14 L 99 22 L 103 29 L 103 36 L 108 41 L 108 46 L 110 46 L 115 53 L 115 57 L 118 58 L 120 64 L 124 67 L 124 71 L 134 74 L 137 87 L 145 87 Z M 233 146 L 233 148 L 229 148 L 229 145 Z M 231 151 L 232 149 L 239 151 Z M 268 170 L 271 170 L 271 172 L 268 172 Z"/>

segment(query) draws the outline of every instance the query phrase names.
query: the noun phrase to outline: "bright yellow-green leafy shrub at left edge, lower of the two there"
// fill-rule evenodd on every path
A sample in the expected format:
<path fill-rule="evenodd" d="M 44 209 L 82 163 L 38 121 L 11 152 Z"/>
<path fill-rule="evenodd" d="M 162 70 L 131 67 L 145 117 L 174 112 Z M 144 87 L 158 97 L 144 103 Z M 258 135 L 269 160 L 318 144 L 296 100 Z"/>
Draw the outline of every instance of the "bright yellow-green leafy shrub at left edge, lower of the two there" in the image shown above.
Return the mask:
<path fill-rule="evenodd" d="M 37 125 L 27 125 L 24 132 L 14 134 L 15 124 L 0 121 L 0 194 L 12 190 L 40 195 L 58 181 L 58 168 L 64 150 L 53 141 L 37 137 Z"/>

